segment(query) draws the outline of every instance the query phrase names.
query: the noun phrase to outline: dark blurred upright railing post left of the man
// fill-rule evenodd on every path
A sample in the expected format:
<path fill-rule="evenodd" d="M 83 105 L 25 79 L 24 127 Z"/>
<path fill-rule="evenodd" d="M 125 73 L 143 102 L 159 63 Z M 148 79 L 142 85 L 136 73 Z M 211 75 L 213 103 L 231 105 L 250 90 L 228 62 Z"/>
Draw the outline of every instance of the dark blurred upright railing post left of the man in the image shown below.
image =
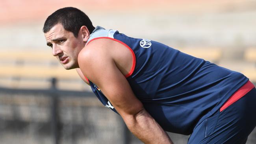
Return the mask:
<path fill-rule="evenodd" d="M 60 138 L 60 122 L 59 122 L 59 100 L 58 92 L 56 89 L 56 78 L 51 79 L 52 86 L 51 91 L 51 130 L 54 144 L 59 144 Z"/>

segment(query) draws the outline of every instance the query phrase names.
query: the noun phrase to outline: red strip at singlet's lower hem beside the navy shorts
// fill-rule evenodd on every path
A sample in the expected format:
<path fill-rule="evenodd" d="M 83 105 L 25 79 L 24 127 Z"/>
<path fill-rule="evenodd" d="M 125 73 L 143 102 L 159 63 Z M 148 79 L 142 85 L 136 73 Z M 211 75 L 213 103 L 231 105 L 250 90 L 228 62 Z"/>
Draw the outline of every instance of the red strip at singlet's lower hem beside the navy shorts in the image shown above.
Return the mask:
<path fill-rule="evenodd" d="M 252 90 L 255 86 L 250 82 L 247 81 L 240 89 L 238 89 L 221 107 L 220 111 L 223 111 L 228 106 L 232 105 L 234 102 L 242 98 L 247 92 Z"/>

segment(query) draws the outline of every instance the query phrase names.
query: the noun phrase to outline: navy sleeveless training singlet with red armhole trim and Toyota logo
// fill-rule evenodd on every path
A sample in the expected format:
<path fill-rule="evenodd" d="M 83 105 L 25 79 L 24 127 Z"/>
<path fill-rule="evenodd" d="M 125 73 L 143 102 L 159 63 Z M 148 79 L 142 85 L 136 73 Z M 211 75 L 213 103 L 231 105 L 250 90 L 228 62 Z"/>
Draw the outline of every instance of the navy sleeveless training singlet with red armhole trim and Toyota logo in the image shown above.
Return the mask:
<path fill-rule="evenodd" d="M 195 124 L 218 111 L 249 80 L 239 72 L 159 42 L 135 39 L 100 26 L 87 44 L 95 39 L 111 39 L 130 50 L 133 66 L 126 79 L 135 96 L 165 131 L 191 134 Z M 117 113 L 100 89 L 89 83 L 103 105 Z"/>

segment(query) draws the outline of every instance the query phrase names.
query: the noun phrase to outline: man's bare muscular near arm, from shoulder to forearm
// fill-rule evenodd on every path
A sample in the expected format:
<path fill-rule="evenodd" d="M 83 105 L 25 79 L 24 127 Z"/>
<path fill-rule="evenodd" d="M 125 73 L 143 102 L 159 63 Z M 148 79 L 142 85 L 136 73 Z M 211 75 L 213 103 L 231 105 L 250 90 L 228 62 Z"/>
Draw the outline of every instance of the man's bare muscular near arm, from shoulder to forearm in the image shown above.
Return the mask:
<path fill-rule="evenodd" d="M 135 97 L 128 81 L 117 68 L 109 53 L 111 47 L 105 48 L 111 43 L 103 41 L 100 44 L 92 43 L 91 47 L 87 46 L 86 50 L 80 52 L 78 62 L 82 73 L 102 90 L 137 138 L 146 144 L 172 144 L 167 133 Z"/>

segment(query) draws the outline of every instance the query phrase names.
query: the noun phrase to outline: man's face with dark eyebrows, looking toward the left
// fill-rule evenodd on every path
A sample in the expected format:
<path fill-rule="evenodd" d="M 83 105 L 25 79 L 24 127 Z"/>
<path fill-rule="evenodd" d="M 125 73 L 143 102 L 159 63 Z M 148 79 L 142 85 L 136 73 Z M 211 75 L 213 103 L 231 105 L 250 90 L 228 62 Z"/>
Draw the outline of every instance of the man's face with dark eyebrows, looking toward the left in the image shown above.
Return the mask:
<path fill-rule="evenodd" d="M 52 47 L 52 55 L 67 70 L 78 68 L 78 54 L 85 46 L 82 33 L 78 33 L 78 37 L 74 37 L 73 33 L 66 31 L 61 24 L 56 24 L 45 33 L 47 45 Z"/>

